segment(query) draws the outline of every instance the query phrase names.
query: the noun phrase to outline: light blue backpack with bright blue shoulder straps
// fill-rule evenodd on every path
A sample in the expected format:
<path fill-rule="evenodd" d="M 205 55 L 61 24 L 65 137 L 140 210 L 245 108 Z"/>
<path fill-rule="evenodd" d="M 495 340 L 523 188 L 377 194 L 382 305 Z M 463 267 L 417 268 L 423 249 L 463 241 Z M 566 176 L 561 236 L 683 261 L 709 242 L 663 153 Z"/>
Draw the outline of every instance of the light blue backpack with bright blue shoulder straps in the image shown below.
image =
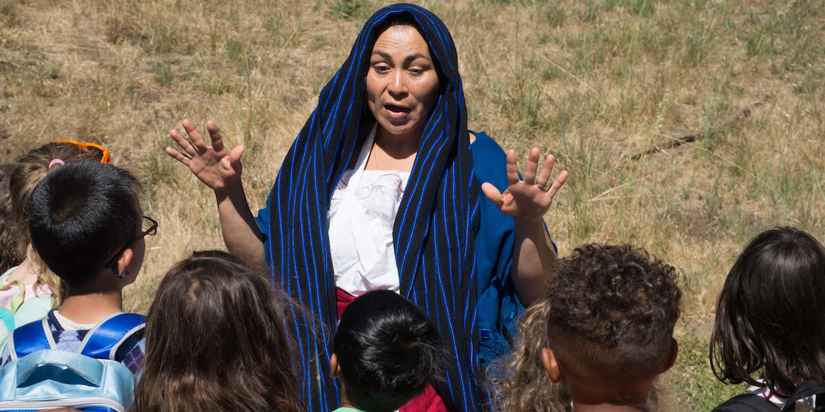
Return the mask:
<path fill-rule="evenodd" d="M 0 369 L 0 411 L 125 412 L 134 400 L 134 375 L 115 353 L 145 325 L 145 316 L 115 313 L 89 330 L 77 352 L 56 348 L 45 319 L 12 330 L 12 361 Z"/>

